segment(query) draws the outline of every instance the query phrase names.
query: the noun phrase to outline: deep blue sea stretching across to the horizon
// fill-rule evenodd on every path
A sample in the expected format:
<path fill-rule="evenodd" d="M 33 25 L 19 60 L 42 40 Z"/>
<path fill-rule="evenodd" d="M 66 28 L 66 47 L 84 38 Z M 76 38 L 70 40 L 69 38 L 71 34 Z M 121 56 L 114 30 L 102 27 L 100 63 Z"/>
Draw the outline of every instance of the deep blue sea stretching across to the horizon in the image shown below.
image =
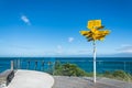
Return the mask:
<path fill-rule="evenodd" d="M 0 57 L 0 73 L 11 68 L 51 73 L 58 64 L 75 64 L 87 73 L 92 73 L 92 57 Z M 97 73 L 124 70 L 132 74 L 132 57 L 97 57 Z"/>

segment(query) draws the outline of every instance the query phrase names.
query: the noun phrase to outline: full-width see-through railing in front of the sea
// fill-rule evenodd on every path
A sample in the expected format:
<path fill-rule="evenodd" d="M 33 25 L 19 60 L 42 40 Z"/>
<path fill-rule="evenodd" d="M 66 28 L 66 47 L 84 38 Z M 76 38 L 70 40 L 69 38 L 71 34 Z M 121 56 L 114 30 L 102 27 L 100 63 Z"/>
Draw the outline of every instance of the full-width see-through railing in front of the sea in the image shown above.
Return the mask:
<path fill-rule="evenodd" d="M 55 63 L 61 62 L 61 64 L 70 63 L 76 64 L 81 69 L 91 73 L 92 72 L 92 61 L 56 61 L 56 59 L 13 59 L 14 69 L 32 69 L 53 74 L 55 70 Z M 10 69 L 10 61 L 8 63 L 0 63 L 0 72 Z M 99 62 L 97 61 L 97 73 L 124 70 L 132 74 L 132 62 Z"/>

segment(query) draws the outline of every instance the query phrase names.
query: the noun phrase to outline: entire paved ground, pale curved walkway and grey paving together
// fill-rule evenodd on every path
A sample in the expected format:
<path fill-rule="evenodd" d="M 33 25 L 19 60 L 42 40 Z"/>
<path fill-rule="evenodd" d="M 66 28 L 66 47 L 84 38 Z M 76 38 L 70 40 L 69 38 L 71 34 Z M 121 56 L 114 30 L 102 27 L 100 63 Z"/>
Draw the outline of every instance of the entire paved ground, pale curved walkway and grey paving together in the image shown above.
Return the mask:
<path fill-rule="evenodd" d="M 97 78 L 96 84 L 91 77 L 53 77 L 46 73 L 19 69 L 7 88 L 132 88 L 132 82 L 103 77 Z"/>

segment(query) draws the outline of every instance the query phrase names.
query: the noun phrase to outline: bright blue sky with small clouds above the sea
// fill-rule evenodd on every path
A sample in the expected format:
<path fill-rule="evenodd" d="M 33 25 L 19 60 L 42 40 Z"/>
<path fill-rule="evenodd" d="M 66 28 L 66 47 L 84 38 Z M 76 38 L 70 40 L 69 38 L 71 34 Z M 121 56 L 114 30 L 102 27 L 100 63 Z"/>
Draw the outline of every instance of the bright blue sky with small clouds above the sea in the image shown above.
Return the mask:
<path fill-rule="evenodd" d="M 0 56 L 92 55 L 79 31 L 102 20 L 97 55 L 132 54 L 131 0 L 0 0 Z"/>

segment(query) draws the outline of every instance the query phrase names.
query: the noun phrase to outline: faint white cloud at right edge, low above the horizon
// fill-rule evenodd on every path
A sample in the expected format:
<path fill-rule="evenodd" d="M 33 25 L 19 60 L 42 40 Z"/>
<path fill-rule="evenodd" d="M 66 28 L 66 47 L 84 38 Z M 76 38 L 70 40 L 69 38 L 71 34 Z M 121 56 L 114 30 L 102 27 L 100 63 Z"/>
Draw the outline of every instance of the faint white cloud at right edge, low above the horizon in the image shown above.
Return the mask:
<path fill-rule="evenodd" d="M 120 53 L 132 53 L 132 45 L 130 44 L 121 45 L 121 47 L 118 48 L 118 51 Z"/>

